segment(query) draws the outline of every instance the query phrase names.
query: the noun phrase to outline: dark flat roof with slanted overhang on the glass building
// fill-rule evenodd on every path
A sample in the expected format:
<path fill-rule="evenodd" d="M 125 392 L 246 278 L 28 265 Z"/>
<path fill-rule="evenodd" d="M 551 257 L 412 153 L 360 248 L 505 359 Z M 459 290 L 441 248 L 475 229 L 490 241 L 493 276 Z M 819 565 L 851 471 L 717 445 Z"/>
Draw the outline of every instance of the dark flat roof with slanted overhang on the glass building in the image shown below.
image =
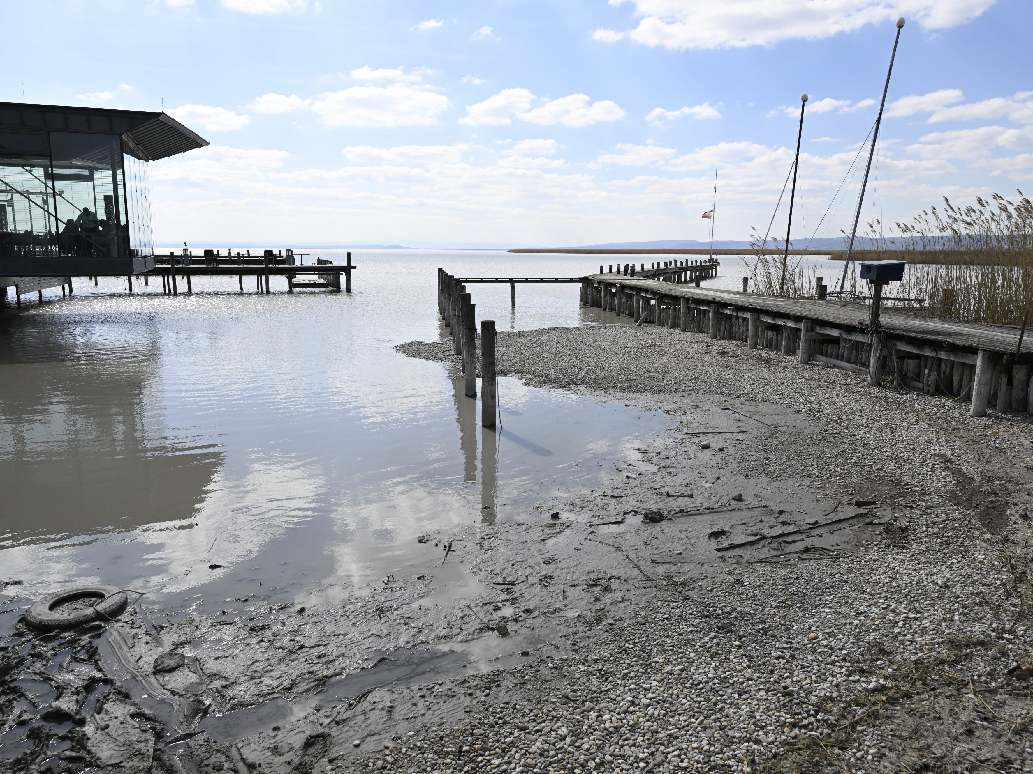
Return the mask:
<path fill-rule="evenodd" d="M 121 134 L 145 161 L 157 161 L 209 144 L 168 114 L 143 110 L 0 102 L 0 128 Z"/>

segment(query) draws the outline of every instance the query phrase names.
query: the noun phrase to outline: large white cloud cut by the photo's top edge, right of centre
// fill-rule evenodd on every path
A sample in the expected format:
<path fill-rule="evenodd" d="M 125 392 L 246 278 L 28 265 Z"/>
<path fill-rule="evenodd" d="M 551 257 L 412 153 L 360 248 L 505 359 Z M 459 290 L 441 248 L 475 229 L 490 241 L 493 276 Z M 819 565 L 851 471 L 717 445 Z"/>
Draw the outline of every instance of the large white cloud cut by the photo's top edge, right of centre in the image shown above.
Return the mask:
<path fill-rule="evenodd" d="M 816 39 L 885 23 L 900 14 L 926 29 L 946 29 L 975 19 L 995 0 L 609 0 L 630 2 L 641 17 L 626 32 L 596 30 L 596 40 L 627 36 L 649 46 L 735 49 L 782 40 Z"/>

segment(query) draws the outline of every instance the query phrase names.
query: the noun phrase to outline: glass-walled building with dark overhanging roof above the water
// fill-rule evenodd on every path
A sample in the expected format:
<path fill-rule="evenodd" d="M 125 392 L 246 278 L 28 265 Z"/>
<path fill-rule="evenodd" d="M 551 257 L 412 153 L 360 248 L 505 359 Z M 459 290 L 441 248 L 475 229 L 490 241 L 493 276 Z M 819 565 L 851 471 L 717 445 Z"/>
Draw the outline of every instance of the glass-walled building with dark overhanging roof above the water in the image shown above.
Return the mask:
<path fill-rule="evenodd" d="M 207 144 L 164 112 L 0 102 L 0 275 L 153 268 L 147 162 Z"/>

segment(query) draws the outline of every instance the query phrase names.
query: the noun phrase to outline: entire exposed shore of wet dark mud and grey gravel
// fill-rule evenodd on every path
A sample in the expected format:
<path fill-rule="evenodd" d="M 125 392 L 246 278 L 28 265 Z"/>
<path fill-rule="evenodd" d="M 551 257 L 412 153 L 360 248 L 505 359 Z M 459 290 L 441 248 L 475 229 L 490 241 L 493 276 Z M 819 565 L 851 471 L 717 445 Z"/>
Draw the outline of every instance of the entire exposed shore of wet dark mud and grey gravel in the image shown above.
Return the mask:
<path fill-rule="evenodd" d="M 501 333 L 499 364 L 672 429 L 594 490 L 414 536 L 377 588 L 17 628 L 4 765 L 1033 770 L 1028 418 L 652 326 Z"/>

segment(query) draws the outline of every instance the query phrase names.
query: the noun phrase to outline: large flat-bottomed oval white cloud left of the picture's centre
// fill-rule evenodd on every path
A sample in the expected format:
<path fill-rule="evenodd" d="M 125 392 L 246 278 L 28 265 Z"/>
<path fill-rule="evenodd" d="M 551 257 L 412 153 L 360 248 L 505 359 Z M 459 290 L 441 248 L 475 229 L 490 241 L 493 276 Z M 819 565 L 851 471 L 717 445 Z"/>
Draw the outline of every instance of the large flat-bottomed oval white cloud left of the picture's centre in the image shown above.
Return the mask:
<path fill-rule="evenodd" d="M 428 87 L 395 84 L 353 86 L 312 98 L 311 107 L 327 127 L 433 126 L 451 106 L 448 98 Z"/>

